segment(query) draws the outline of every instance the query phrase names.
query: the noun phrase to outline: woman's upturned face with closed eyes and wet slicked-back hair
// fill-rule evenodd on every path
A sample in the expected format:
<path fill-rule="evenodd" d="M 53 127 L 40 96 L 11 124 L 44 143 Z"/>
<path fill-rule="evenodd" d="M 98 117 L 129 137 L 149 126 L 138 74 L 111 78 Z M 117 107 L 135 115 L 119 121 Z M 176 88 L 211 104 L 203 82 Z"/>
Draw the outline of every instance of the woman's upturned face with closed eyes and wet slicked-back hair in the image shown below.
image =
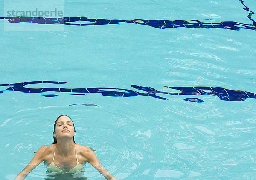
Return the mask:
<path fill-rule="evenodd" d="M 53 132 L 53 136 L 57 139 L 61 139 L 65 137 L 73 138 L 73 136 L 75 135 L 76 132 L 71 119 L 66 115 L 58 118 L 55 126 L 55 132 Z"/>

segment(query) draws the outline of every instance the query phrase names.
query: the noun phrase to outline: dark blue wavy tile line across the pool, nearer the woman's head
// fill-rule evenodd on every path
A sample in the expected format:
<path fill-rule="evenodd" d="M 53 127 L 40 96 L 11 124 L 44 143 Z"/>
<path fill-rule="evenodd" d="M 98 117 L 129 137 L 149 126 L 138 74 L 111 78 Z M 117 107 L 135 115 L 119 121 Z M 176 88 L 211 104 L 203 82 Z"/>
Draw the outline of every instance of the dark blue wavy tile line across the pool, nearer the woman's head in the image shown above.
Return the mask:
<path fill-rule="evenodd" d="M 3 93 L 4 91 L 20 91 L 23 93 L 44 93 L 44 92 L 53 91 L 53 92 L 59 92 L 59 93 L 65 93 L 65 92 L 66 93 L 99 93 L 99 94 L 102 94 L 102 96 L 112 96 L 112 97 L 150 96 L 150 97 L 154 97 L 162 100 L 167 100 L 167 98 L 157 96 L 157 94 L 158 95 L 168 94 L 168 95 L 178 95 L 178 96 L 212 95 L 212 96 L 218 96 L 221 100 L 224 100 L 224 101 L 244 101 L 247 98 L 253 98 L 253 99 L 256 98 L 256 94 L 248 91 L 229 90 L 223 87 L 208 87 L 208 86 L 194 86 L 194 87 L 164 86 L 168 89 L 177 91 L 176 93 L 158 91 L 153 87 L 144 87 L 144 86 L 138 86 L 138 85 L 131 85 L 131 87 L 137 90 L 144 91 L 143 93 L 134 91 L 134 90 L 128 90 L 128 89 L 122 89 L 122 88 L 109 88 L 109 87 L 94 87 L 94 88 L 59 88 L 59 87 L 27 88 L 27 87 L 24 87 L 29 84 L 44 84 L 44 83 L 65 84 L 67 82 L 31 81 L 31 82 L 20 82 L 20 83 L 13 83 L 13 84 L 0 84 L 0 86 L 12 86 L 12 87 L 8 87 L 6 90 L 0 91 L 0 93 Z M 54 97 L 54 96 L 52 94 L 45 95 L 45 97 Z M 190 102 L 204 102 L 203 100 L 198 98 L 186 98 L 184 100 L 190 101 Z M 76 105 L 76 104 L 73 104 L 73 105 Z M 88 106 L 89 104 L 81 104 L 81 105 Z M 95 105 L 95 104 L 90 104 L 90 105 Z"/>

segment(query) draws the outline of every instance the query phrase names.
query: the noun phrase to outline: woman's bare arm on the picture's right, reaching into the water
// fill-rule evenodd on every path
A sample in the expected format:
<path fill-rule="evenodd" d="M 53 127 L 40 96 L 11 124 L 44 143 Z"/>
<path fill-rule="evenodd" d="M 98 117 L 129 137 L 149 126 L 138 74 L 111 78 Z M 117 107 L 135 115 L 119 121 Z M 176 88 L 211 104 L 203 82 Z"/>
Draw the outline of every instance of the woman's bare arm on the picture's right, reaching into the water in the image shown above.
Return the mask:
<path fill-rule="evenodd" d="M 104 176 L 107 180 L 117 180 L 112 174 L 110 174 L 105 167 L 99 162 L 95 153 L 89 149 L 87 152 L 87 162 L 90 163 L 95 169 L 97 169 L 102 176 Z"/>

